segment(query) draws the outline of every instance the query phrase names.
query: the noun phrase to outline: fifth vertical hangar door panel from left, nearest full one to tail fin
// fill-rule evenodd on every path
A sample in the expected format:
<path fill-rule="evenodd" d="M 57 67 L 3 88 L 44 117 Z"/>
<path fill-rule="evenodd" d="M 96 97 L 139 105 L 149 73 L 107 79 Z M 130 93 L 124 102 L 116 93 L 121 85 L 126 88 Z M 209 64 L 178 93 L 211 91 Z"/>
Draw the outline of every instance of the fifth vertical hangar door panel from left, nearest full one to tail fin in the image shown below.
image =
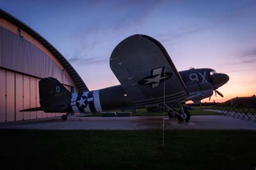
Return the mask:
<path fill-rule="evenodd" d="M 30 77 L 30 107 L 36 107 L 36 78 Z M 30 118 L 36 118 L 36 112 L 30 112 Z"/>

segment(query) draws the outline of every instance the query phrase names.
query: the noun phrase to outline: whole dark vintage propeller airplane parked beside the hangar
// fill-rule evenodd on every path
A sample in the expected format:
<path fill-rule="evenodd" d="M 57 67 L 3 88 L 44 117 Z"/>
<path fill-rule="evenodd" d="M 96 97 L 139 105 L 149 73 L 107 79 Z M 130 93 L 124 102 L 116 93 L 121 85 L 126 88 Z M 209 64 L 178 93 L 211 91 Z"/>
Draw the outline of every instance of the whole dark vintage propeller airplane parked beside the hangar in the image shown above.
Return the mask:
<path fill-rule="evenodd" d="M 163 45 L 147 35 L 125 38 L 113 50 L 109 65 L 120 85 L 95 91 L 70 93 L 57 79 L 39 81 L 40 107 L 22 111 L 97 113 L 158 105 L 182 122 L 190 114 L 185 102 L 200 102 L 223 86 L 228 75 L 211 68 L 177 72 Z M 172 107 L 179 103 L 180 111 Z"/>

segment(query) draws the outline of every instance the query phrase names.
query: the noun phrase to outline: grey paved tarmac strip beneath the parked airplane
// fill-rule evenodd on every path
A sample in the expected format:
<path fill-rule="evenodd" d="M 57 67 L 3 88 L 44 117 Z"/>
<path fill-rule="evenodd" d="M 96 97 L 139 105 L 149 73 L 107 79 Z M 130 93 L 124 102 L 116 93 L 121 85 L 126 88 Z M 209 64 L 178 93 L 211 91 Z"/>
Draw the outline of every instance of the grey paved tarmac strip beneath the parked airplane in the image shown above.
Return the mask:
<path fill-rule="evenodd" d="M 0 123 L 0 128 L 47 129 L 47 130 L 151 130 L 163 129 L 161 116 L 131 117 L 76 117 L 70 116 L 67 121 L 60 117 L 29 120 L 26 122 Z M 164 129 L 223 129 L 223 130 L 256 130 L 256 122 L 220 115 L 191 116 L 190 123 L 177 123 L 175 119 L 164 118 Z"/>

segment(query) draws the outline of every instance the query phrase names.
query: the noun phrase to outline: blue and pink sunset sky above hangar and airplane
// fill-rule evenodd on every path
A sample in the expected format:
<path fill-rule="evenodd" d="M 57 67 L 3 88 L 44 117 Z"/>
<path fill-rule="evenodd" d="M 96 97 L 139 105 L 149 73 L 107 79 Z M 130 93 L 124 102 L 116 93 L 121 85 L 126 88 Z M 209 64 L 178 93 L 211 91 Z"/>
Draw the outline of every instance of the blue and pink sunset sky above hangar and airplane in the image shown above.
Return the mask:
<path fill-rule="evenodd" d="M 164 45 L 179 71 L 227 73 L 224 98 L 211 101 L 256 94 L 256 1 L 0 0 L 0 8 L 56 47 L 90 90 L 120 84 L 109 68 L 111 52 L 143 34 Z"/>

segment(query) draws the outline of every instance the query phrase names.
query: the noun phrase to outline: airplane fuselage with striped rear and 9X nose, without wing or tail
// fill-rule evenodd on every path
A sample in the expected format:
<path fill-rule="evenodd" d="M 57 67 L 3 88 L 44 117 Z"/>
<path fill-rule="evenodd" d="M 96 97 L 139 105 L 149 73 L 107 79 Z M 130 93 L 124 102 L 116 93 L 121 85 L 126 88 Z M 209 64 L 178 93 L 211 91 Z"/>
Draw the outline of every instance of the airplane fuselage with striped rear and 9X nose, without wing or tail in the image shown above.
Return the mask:
<path fill-rule="evenodd" d="M 228 81 L 227 75 L 216 73 L 211 68 L 185 70 L 179 72 L 179 74 L 188 88 L 188 100 L 193 100 L 194 102 L 211 97 L 213 89 L 219 88 Z M 133 107 L 132 100 L 125 93 L 122 85 L 95 91 L 72 93 L 68 98 L 70 98 L 70 103 L 61 112 L 90 113 Z M 48 112 L 51 112 L 51 110 Z"/>

